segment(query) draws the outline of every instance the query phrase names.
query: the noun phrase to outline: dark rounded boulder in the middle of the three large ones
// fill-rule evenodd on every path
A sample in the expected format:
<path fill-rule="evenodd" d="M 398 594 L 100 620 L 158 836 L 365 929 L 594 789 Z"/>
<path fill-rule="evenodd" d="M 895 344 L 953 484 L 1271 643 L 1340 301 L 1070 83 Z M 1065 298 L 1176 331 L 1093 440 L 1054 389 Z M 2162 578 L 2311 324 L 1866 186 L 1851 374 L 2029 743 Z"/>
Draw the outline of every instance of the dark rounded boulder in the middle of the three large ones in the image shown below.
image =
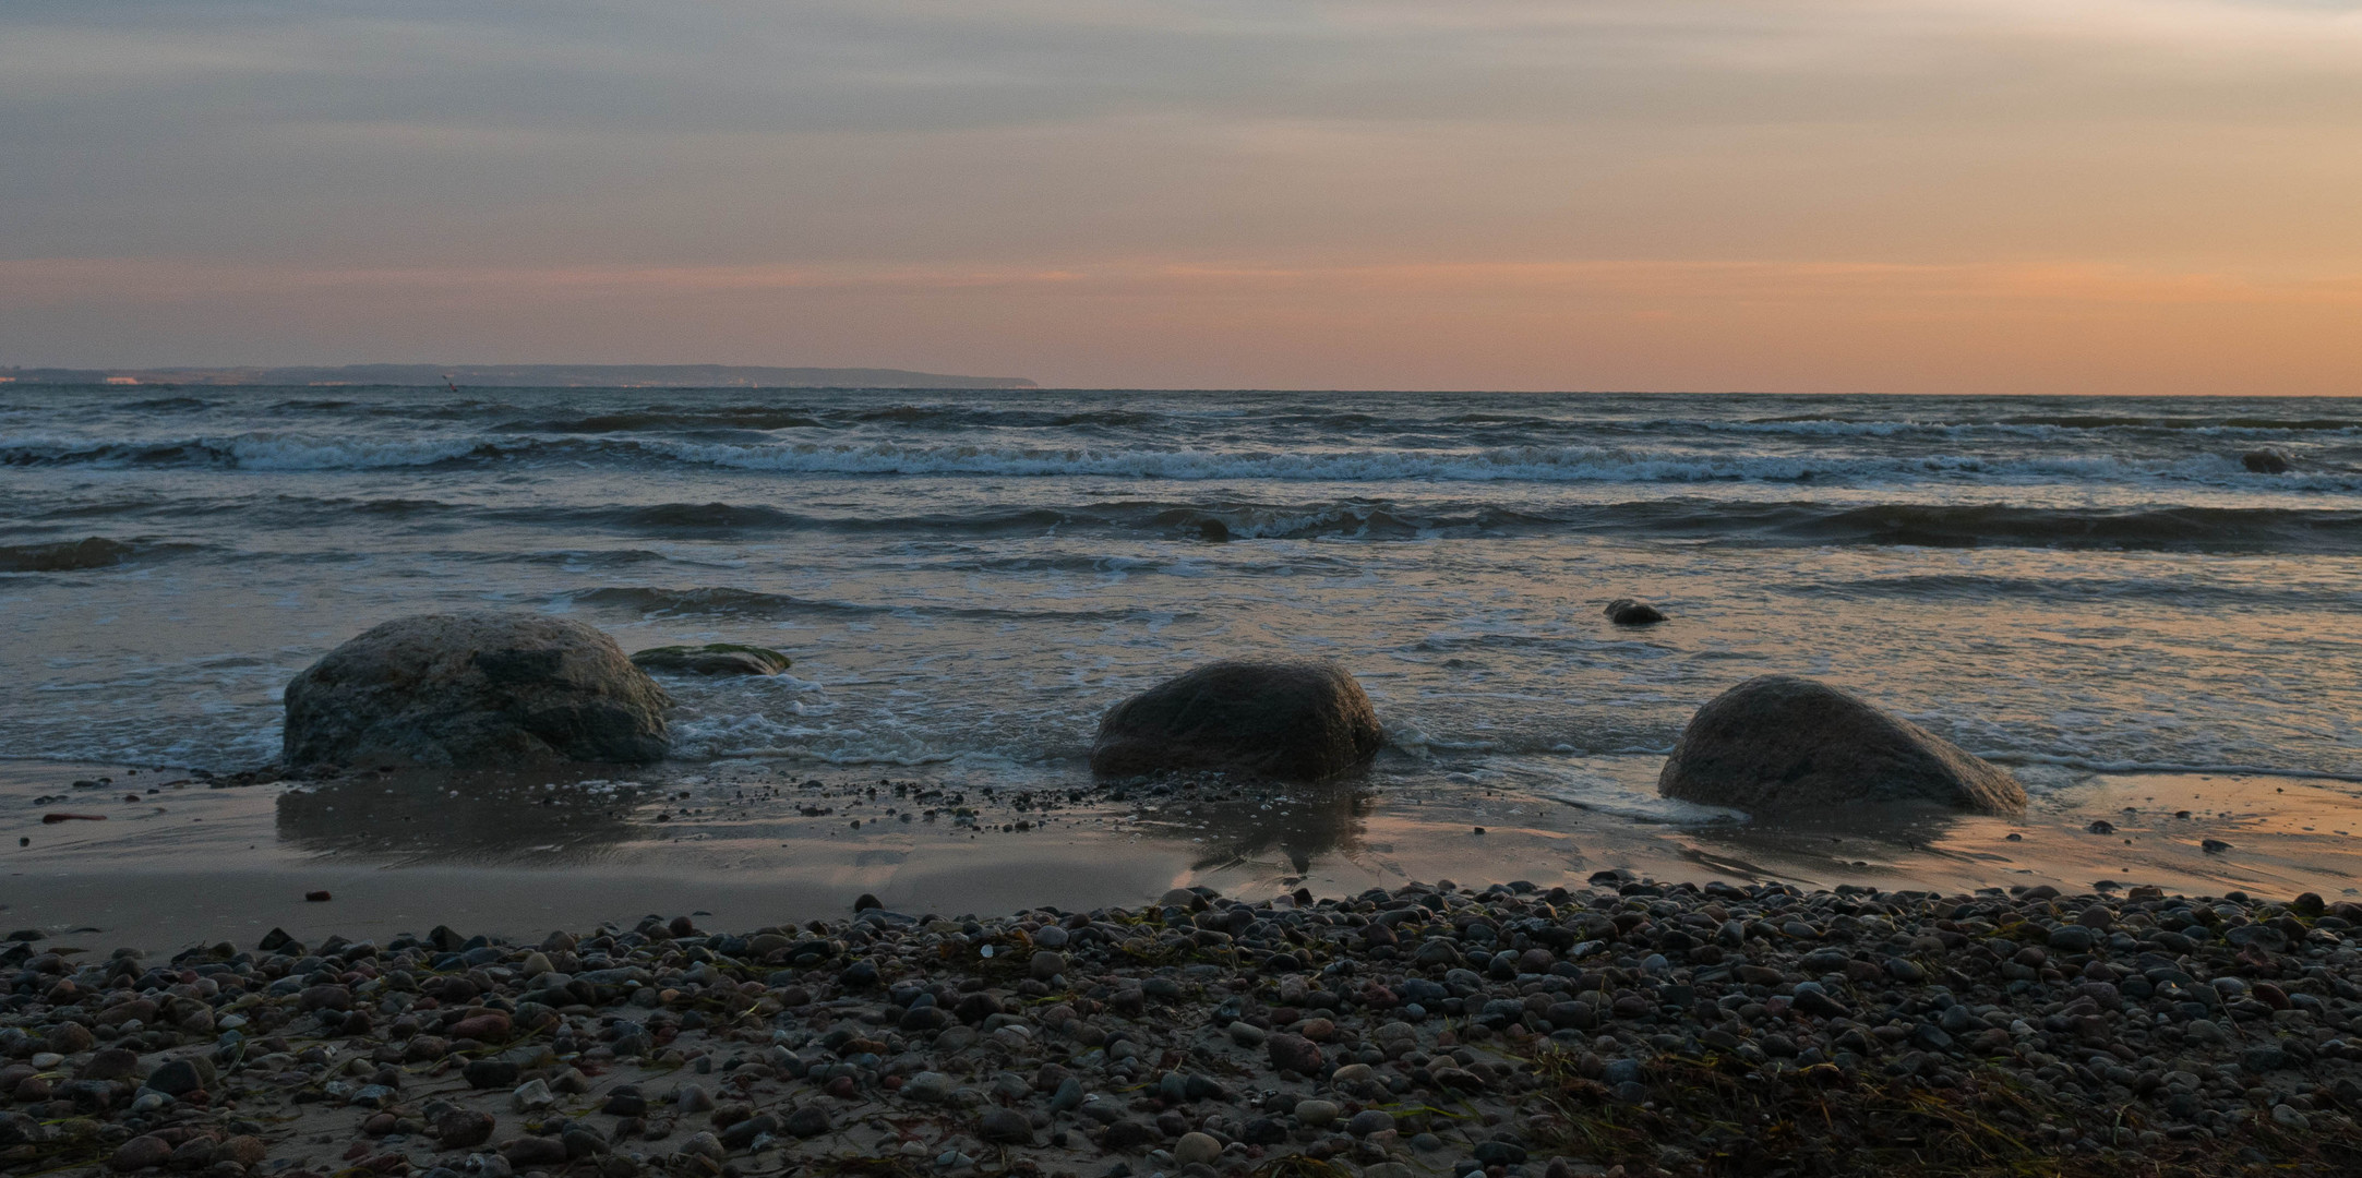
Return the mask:
<path fill-rule="evenodd" d="M 1377 711 L 1342 666 L 1221 661 L 1108 711 L 1091 772 L 1226 770 L 1325 781 L 1368 765 L 1379 744 Z"/>

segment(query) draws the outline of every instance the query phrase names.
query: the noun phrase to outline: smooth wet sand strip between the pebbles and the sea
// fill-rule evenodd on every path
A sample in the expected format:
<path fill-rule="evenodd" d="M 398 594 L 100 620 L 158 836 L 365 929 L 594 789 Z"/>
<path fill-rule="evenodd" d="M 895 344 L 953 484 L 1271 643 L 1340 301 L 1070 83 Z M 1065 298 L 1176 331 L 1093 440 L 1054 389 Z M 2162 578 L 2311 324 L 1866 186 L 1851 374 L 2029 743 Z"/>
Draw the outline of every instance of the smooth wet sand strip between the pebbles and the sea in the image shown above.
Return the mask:
<path fill-rule="evenodd" d="M 0 763 L 0 847 L 12 855 L 0 923 L 144 951 L 246 947 L 269 928 L 383 940 L 442 923 L 536 940 L 645 914 L 716 928 L 839 918 L 864 892 L 959 916 L 1141 904 L 1183 885 L 1235 897 L 1438 878 L 1552 888 L 1618 869 L 1807 890 L 2157 885 L 2350 899 L 2362 803 L 2331 786 L 2097 777 L 2036 796 L 2022 819 L 1797 829 L 1644 822 L 1481 788 L 1016 793 L 957 774 L 815 777 L 761 763 L 633 779 L 359 774 L 208 788 L 172 770 Z M 2208 838 L 2227 847 L 2208 852 Z M 328 902 L 305 899 L 321 890 Z"/>

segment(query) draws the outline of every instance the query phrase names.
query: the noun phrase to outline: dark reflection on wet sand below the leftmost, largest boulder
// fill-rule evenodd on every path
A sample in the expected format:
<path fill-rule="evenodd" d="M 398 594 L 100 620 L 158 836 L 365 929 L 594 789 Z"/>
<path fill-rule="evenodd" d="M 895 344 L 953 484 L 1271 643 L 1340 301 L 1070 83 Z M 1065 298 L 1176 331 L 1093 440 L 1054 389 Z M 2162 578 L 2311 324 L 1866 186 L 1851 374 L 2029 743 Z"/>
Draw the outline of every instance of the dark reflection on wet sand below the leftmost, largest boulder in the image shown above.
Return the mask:
<path fill-rule="evenodd" d="M 397 862 L 588 862 L 647 836 L 645 781 L 520 774 L 359 774 L 279 796 L 279 840 Z"/>

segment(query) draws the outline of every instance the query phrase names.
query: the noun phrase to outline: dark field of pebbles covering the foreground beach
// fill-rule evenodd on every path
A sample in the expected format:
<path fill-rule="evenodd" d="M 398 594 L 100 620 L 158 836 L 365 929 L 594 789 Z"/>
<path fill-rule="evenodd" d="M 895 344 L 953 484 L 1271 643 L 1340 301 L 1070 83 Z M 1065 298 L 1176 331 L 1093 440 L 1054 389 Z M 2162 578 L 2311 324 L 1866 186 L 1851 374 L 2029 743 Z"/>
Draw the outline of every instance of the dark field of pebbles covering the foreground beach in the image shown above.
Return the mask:
<path fill-rule="evenodd" d="M 1207 888 L 508 944 L 12 937 L 0 1171 L 2362 1171 L 2362 907 L 2154 888 Z M 26 930 L 31 932 L 31 930 Z"/>

